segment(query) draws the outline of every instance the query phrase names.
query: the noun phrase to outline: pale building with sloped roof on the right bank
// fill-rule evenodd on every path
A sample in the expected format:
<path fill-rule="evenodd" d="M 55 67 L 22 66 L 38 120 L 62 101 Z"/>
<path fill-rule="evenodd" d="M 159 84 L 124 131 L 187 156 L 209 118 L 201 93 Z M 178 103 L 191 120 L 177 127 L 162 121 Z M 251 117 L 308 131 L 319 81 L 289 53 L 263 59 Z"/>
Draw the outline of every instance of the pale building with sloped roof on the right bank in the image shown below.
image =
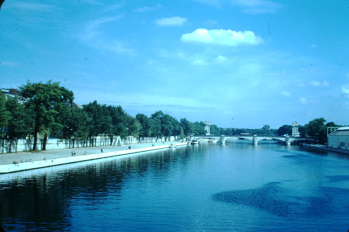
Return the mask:
<path fill-rule="evenodd" d="M 349 127 L 340 127 L 327 135 L 327 146 L 342 150 L 349 150 Z"/>

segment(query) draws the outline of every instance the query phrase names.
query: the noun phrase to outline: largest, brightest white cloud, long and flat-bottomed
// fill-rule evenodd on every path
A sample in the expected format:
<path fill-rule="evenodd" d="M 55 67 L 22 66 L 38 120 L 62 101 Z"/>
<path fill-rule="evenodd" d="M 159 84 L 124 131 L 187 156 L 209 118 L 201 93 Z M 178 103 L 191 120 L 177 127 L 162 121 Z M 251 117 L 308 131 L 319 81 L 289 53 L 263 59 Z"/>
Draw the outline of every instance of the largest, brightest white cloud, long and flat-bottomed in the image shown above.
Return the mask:
<path fill-rule="evenodd" d="M 196 29 L 192 33 L 184 34 L 180 38 L 184 42 L 201 42 L 227 46 L 258 45 L 263 42 L 259 35 L 252 31 L 231 31 L 231 30 L 207 30 Z"/>

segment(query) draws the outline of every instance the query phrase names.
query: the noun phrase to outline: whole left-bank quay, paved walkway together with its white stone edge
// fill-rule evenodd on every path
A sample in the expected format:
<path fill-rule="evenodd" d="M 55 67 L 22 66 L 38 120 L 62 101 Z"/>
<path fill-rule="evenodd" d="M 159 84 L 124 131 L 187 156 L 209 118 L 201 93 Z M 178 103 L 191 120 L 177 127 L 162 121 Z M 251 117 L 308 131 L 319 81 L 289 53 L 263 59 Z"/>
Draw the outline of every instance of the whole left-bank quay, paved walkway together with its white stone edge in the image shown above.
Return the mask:
<path fill-rule="evenodd" d="M 176 146 L 187 144 L 187 142 L 182 143 L 168 141 L 140 143 L 125 146 L 80 147 L 75 149 L 58 149 L 41 152 L 6 153 L 0 155 L 0 174 L 95 160 L 143 151 L 165 149 L 169 148 L 171 143 L 175 143 Z"/>

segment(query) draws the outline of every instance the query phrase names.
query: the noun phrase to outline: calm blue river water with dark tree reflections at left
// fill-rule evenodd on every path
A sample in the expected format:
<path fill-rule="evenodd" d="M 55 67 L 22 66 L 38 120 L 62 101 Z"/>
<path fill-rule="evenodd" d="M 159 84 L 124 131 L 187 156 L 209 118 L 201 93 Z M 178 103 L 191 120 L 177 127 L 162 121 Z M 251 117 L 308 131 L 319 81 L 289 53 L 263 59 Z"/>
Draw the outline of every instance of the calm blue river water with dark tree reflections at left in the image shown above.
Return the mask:
<path fill-rule="evenodd" d="M 11 174 L 0 199 L 5 231 L 348 231 L 349 155 L 201 143 Z"/>

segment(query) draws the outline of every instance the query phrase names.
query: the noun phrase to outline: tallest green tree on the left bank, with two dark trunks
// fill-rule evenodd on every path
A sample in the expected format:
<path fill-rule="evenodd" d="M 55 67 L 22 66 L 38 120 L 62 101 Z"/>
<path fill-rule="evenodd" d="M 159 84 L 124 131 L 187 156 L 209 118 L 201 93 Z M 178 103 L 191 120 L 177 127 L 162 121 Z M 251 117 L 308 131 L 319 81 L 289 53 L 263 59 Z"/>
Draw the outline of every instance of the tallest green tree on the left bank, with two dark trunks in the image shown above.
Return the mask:
<path fill-rule="evenodd" d="M 46 149 L 46 134 L 63 128 L 62 116 L 74 99 L 72 91 L 59 85 L 60 82 L 31 83 L 22 85 L 21 95 L 27 99 L 25 106 L 34 119 L 34 144 L 36 150 L 37 135 L 44 133 L 43 150 Z"/>

